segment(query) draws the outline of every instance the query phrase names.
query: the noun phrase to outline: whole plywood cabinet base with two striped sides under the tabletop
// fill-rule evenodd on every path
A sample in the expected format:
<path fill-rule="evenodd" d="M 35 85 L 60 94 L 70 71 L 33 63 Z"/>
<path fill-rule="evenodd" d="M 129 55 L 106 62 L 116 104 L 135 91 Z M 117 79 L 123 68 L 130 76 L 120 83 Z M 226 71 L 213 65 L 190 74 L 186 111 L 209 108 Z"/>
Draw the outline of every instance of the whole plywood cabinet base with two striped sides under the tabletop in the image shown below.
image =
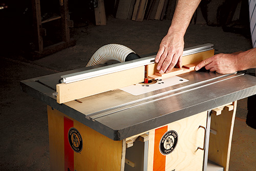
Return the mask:
<path fill-rule="evenodd" d="M 220 109 L 221 114 L 211 115 L 210 135 L 201 129 L 207 127 L 209 111 L 205 111 L 121 141 L 113 141 L 48 106 L 50 168 L 77 171 L 198 171 L 205 168 L 205 151 L 201 149 L 206 148 L 208 159 L 220 165 L 212 166 L 210 170 L 220 171 L 222 168 L 227 171 L 236 102 Z M 205 137 L 208 136 L 207 148 Z"/>

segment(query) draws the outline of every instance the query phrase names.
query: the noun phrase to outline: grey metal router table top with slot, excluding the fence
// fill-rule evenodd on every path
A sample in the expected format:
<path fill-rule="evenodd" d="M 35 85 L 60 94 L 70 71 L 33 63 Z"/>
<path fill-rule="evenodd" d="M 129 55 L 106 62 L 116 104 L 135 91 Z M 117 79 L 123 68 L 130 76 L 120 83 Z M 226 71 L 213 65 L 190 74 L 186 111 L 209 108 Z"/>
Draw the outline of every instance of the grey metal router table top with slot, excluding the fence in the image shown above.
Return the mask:
<path fill-rule="evenodd" d="M 163 88 L 140 95 L 116 89 L 79 99 L 82 103 L 75 100 L 57 103 L 53 93 L 60 76 L 88 69 L 23 80 L 20 85 L 24 92 L 113 140 L 122 140 L 256 94 L 256 77 L 242 73 L 190 72 L 178 75 L 188 81 L 166 86 L 169 83 L 163 80 Z"/>

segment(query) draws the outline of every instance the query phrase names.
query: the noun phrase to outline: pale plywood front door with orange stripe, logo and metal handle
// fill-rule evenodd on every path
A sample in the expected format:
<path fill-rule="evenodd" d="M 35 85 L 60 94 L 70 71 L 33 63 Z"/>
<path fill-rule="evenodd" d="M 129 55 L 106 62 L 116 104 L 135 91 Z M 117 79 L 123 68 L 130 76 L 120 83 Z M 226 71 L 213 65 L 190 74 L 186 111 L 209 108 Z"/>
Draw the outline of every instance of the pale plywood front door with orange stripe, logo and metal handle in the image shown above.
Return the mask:
<path fill-rule="evenodd" d="M 202 170 L 206 120 L 207 111 L 150 131 L 148 171 Z"/>

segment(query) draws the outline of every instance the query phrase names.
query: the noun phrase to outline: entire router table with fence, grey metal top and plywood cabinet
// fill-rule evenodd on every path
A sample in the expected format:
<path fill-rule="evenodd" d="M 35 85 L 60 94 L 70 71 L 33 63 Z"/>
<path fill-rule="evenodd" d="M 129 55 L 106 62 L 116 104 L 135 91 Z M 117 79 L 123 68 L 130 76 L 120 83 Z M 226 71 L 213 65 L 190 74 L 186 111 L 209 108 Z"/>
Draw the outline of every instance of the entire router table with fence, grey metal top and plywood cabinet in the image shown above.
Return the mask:
<path fill-rule="evenodd" d="M 184 49 L 184 62 L 212 47 Z M 228 170 L 237 100 L 256 94 L 256 77 L 194 71 L 205 57 L 159 75 L 154 58 L 20 82 L 48 105 L 51 170 Z"/>

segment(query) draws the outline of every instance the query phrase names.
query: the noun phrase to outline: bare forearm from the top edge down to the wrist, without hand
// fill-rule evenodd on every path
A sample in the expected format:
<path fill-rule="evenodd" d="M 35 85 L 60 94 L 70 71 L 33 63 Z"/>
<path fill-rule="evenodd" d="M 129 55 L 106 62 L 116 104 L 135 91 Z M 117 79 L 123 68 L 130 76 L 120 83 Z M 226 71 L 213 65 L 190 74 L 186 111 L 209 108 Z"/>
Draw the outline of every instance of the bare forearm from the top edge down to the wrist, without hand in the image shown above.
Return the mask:
<path fill-rule="evenodd" d="M 176 33 L 184 36 L 200 2 L 201 0 L 179 0 L 167 34 Z"/>

